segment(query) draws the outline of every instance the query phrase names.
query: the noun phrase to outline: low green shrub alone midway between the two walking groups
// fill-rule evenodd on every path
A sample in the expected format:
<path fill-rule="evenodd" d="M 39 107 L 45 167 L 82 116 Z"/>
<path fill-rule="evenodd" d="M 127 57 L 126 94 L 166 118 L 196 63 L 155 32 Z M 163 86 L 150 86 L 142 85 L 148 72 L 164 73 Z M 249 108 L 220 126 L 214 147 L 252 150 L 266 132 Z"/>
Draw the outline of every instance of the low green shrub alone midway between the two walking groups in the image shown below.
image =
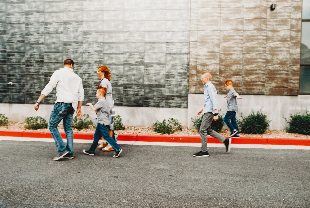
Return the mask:
<path fill-rule="evenodd" d="M 178 120 L 169 118 L 166 122 L 164 119 L 163 122 L 159 122 L 158 120 L 153 123 L 152 129 L 160 134 L 173 134 L 176 131 L 182 131 L 182 126 L 178 122 Z"/>

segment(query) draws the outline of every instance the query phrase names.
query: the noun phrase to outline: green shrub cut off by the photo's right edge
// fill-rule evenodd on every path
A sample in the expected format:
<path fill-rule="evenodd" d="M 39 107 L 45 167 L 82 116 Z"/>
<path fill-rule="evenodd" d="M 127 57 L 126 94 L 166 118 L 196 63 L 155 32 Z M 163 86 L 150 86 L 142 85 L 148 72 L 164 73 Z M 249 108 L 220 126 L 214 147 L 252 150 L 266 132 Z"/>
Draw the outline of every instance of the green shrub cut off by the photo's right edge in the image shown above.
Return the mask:
<path fill-rule="evenodd" d="M 306 113 L 290 114 L 290 120 L 284 118 L 289 127 L 286 129 L 289 133 L 310 135 L 310 113 L 306 109 Z"/>

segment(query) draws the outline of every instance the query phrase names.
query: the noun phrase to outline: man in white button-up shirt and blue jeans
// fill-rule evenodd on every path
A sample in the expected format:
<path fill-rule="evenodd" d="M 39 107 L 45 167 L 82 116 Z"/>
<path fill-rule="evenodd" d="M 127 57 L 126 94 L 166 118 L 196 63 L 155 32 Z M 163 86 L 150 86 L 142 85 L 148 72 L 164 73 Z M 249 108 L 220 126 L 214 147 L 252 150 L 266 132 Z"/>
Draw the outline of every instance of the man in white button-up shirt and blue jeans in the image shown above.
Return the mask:
<path fill-rule="evenodd" d="M 61 158 L 73 159 L 72 118 L 75 110 L 77 111 L 77 116 L 82 117 L 81 106 L 84 100 L 82 79 L 73 72 L 73 69 L 73 60 L 64 60 L 64 68 L 58 69 L 53 73 L 50 82 L 41 91 L 37 103 L 34 104 L 34 109 L 38 110 L 41 101 L 56 87 L 57 99 L 48 122 L 48 129 L 58 149 L 58 155 L 53 160 Z M 61 120 L 64 124 L 67 145 L 64 144 L 57 128 Z"/>

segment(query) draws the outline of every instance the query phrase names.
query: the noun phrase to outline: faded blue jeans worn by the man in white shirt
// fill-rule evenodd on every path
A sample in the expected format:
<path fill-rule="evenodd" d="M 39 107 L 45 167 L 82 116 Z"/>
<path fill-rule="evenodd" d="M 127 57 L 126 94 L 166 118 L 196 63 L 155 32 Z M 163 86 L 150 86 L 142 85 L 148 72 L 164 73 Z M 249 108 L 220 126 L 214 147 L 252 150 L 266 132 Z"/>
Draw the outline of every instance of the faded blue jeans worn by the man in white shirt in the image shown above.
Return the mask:
<path fill-rule="evenodd" d="M 52 137 L 55 140 L 58 153 L 64 153 L 69 151 L 67 156 L 73 156 L 73 131 L 72 131 L 72 118 L 73 118 L 74 109 L 72 108 L 71 103 L 55 103 L 54 108 L 51 112 L 50 120 L 48 121 L 48 129 L 51 132 Z M 64 144 L 64 141 L 61 138 L 61 135 L 58 131 L 58 124 L 60 121 L 63 121 L 64 132 L 67 138 L 67 146 Z"/>

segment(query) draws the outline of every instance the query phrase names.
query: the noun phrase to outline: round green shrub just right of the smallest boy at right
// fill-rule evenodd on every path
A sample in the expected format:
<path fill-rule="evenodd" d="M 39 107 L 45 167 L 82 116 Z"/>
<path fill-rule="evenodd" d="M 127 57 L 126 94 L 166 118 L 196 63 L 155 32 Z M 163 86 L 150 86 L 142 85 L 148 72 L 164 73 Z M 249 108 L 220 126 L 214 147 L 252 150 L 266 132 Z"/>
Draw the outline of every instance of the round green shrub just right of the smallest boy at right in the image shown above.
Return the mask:
<path fill-rule="evenodd" d="M 250 115 L 243 117 L 242 120 L 238 120 L 238 126 L 245 134 L 263 134 L 269 127 L 270 121 L 267 120 L 267 115 L 260 109 L 257 113 L 252 110 Z"/>

